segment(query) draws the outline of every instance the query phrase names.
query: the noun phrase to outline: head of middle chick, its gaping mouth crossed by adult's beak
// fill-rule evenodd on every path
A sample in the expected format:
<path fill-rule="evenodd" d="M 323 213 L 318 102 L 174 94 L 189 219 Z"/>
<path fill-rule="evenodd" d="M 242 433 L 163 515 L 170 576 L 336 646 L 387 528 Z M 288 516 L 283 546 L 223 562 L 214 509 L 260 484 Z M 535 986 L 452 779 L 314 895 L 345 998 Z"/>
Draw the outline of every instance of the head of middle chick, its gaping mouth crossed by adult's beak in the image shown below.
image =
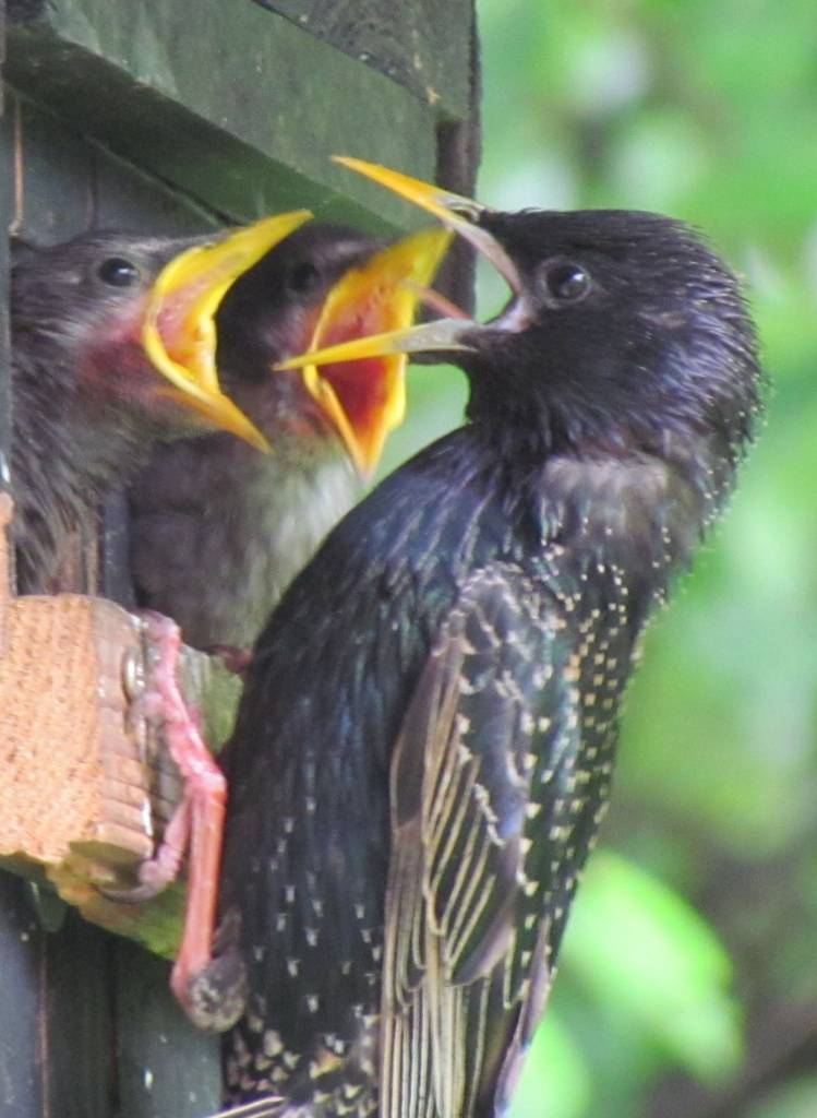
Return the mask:
<path fill-rule="evenodd" d="M 383 247 L 345 226 L 311 224 L 292 234 L 235 283 L 218 310 L 225 390 L 254 418 L 274 413 L 270 428 L 288 425 L 305 453 L 310 433 L 336 430 L 361 473 L 371 473 L 403 416 L 405 357 L 272 369 L 308 348 L 408 326 L 417 290 L 431 282 L 450 237 L 435 228 Z"/>

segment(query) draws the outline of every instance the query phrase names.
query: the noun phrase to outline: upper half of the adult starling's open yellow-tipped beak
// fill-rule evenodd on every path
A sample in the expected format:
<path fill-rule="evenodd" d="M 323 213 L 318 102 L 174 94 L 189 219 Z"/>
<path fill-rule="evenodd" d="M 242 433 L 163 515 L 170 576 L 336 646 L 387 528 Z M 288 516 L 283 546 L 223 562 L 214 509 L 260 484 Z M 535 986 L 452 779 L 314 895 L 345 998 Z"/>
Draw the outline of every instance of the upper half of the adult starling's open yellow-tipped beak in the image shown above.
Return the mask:
<path fill-rule="evenodd" d="M 444 190 L 441 187 L 435 187 L 430 182 L 422 182 L 421 179 L 412 179 L 400 171 L 379 167 L 377 163 L 367 163 L 362 159 L 350 159 L 348 155 L 333 155 L 332 158 L 336 163 L 359 171 L 360 174 L 388 187 L 389 190 L 393 190 L 396 195 L 408 199 L 420 209 L 434 214 L 444 225 L 458 233 L 464 240 L 467 240 L 486 259 L 491 260 L 515 295 L 522 294 L 522 277 L 519 274 L 519 268 L 502 245 L 478 224 L 479 215 L 490 211 L 487 206 L 475 202 L 471 198 L 463 198 L 450 190 Z"/>

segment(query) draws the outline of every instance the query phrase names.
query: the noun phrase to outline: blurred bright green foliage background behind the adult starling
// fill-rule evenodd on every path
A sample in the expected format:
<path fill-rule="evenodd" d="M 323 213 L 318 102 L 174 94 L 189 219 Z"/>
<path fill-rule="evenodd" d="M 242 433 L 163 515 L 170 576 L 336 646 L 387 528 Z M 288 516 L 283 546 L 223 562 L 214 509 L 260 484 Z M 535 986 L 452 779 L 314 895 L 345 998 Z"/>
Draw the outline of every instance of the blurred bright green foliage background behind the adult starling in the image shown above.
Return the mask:
<path fill-rule="evenodd" d="M 817 8 L 478 0 L 479 198 L 663 210 L 741 272 L 768 421 L 653 624 L 511 1118 L 817 1116 Z M 483 282 L 482 316 L 501 297 Z M 462 416 L 415 369 L 392 468 Z"/>

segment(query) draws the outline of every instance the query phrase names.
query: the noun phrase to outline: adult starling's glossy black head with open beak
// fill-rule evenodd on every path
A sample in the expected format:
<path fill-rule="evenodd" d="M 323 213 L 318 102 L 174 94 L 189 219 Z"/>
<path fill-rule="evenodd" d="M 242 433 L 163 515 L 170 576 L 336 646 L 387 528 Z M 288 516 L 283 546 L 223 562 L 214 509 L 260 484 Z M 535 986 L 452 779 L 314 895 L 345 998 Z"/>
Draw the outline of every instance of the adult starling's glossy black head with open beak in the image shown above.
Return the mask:
<path fill-rule="evenodd" d="M 688 226 L 630 210 L 506 214 L 341 162 L 440 217 L 512 295 L 484 325 L 441 319 L 320 360 L 452 358 L 471 380 L 468 417 L 512 453 L 694 454 L 705 470 L 713 443 L 735 464 L 759 408 L 757 339 L 737 278 Z"/>

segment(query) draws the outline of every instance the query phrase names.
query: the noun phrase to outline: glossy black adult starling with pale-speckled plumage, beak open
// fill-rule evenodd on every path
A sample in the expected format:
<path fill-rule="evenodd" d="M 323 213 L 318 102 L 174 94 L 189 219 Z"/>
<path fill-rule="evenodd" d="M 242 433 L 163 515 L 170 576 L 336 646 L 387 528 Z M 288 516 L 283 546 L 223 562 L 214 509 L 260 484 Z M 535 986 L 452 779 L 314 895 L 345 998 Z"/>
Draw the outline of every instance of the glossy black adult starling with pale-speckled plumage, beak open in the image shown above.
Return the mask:
<path fill-rule="evenodd" d="M 637 638 L 759 407 L 738 282 L 685 225 L 400 186 L 513 295 L 486 325 L 321 358 L 453 350 L 468 421 L 338 525 L 256 650 L 226 756 L 222 954 L 193 984 L 201 1021 L 243 1010 L 230 1095 L 279 1097 L 254 1114 L 503 1112 Z"/>

